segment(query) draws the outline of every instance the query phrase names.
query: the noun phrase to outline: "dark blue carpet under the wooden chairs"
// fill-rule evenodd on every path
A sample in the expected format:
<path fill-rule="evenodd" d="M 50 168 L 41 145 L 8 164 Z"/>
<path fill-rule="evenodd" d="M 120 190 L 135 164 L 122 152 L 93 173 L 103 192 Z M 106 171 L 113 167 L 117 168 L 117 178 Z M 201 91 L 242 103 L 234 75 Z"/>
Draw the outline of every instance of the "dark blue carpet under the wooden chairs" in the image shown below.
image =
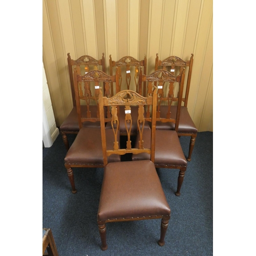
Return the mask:
<path fill-rule="evenodd" d="M 75 135 L 70 135 L 72 143 Z M 190 137 L 181 137 L 185 156 Z M 51 228 L 59 256 L 203 255 L 213 254 L 212 243 L 213 133 L 200 132 L 176 197 L 179 170 L 157 169 L 172 210 L 165 245 L 157 244 L 161 220 L 107 223 L 108 250 L 101 251 L 97 210 L 103 168 L 74 168 L 77 193 L 71 193 L 59 135 L 42 150 L 42 227 Z"/>

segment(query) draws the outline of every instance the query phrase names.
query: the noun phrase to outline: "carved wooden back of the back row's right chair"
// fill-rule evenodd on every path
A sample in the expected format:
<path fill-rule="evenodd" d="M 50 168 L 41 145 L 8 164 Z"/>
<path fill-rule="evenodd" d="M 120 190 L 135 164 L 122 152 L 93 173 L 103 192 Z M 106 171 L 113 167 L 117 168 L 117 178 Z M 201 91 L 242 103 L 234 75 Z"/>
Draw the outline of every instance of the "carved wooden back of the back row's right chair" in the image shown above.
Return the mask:
<path fill-rule="evenodd" d="M 164 60 L 160 60 L 158 58 L 158 53 L 157 53 L 156 61 L 155 61 L 155 70 L 158 70 L 158 69 L 167 70 L 173 75 L 181 75 L 181 73 L 183 72 L 183 69 L 185 68 L 185 72 L 186 72 L 185 76 L 187 77 L 186 79 L 184 79 L 184 81 L 186 81 L 186 84 L 184 84 L 184 87 L 186 88 L 186 90 L 185 90 L 184 97 L 182 95 L 182 102 L 184 102 L 184 106 L 187 106 L 191 73 L 192 73 L 193 61 L 194 61 L 193 58 L 194 58 L 194 54 L 191 54 L 190 60 L 187 60 L 187 61 L 184 61 L 177 56 L 169 56 Z"/>

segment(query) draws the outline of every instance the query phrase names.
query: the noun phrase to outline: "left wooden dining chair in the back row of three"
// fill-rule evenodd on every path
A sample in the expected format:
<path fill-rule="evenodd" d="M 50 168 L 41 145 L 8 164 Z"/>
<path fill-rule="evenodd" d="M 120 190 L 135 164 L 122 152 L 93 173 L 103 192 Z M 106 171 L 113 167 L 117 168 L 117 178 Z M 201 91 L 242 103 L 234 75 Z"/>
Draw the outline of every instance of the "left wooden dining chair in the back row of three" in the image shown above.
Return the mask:
<path fill-rule="evenodd" d="M 73 109 L 67 116 L 67 118 L 63 121 L 63 123 L 59 127 L 60 134 L 62 136 L 63 142 L 66 146 L 67 151 L 69 150 L 69 141 L 67 134 L 77 134 L 79 131 L 79 124 L 77 119 L 77 109 L 76 109 L 76 99 L 75 99 L 75 88 L 74 88 L 74 78 L 73 78 L 73 70 L 76 69 L 77 74 L 83 75 L 87 74 L 91 70 L 101 70 L 104 73 L 105 69 L 105 57 L 104 53 L 102 53 L 102 58 L 97 60 L 89 55 L 83 55 L 80 58 L 73 60 L 68 53 L 68 68 L 69 68 L 69 77 L 70 77 L 70 85 L 72 92 L 72 100 L 73 100 Z M 104 88 L 104 86 L 103 86 Z M 81 115 L 88 116 L 88 106 L 81 105 Z M 97 105 L 90 106 L 91 116 L 97 116 Z M 84 122 L 83 126 L 85 127 L 100 127 L 99 122 Z"/>

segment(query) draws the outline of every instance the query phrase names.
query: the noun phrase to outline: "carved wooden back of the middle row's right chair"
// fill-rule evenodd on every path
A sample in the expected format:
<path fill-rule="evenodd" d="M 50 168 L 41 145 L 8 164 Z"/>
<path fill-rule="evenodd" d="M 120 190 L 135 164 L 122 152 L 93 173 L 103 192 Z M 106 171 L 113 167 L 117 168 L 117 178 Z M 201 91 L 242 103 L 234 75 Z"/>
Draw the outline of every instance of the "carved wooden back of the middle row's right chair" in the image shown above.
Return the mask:
<path fill-rule="evenodd" d="M 143 75 L 142 81 L 147 82 L 147 96 L 153 94 L 153 88 L 157 90 L 157 108 L 156 108 L 156 121 L 160 122 L 173 122 L 175 123 L 175 131 L 178 132 L 179 120 L 180 120 L 180 107 L 181 107 L 181 95 L 184 85 L 184 68 L 181 75 L 174 76 L 166 70 L 157 70 L 150 75 Z M 166 88 L 165 88 L 166 87 Z M 174 91 L 177 87 L 178 97 L 175 97 Z M 178 103 L 176 115 L 171 115 L 170 106 L 174 103 Z M 167 104 L 168 110 L 166 116 L 161 115 L 160 106 Z M 146 117 L 150 117 L 151 108 L 147 106 Z"/>

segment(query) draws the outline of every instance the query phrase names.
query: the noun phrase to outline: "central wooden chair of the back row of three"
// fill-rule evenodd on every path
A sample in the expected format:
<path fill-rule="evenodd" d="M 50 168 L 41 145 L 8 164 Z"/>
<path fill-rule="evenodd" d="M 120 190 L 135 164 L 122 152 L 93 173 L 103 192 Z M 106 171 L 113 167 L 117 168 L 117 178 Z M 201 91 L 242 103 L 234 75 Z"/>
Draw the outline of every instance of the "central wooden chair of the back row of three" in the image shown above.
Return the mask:
<path fill-rule="evenodd" d="M 142 74 L 146 74 L 146 56 L 144 56 L 143 60 L 137 60 L 131 56 L 124 56 L 117 61 L 112 60 L 112 56 L 110 55 L 110 75 L 113 75 L 113 72 L 118 72 L 119 75 L 119 86 L 116 88 L 116 92 L 120 90 L 133 90 L 140 95 L 142 95 Z M 143 70 L 142 70 L 143 68 Z M 143 87 L 144 87 L 143 83 Z M 111 84 L 112 90 L 113 84 Z M 144 89 L 145 91 L 145 89 Z M 132 115 L 133 119 L 137 119 L 138 106 L 132 106 Z M 124 107 L 120 106 L 120 120 L 123 120 L 124 115 Z M 110 125 L 109 123 L 107 125 Z M 127 136 L 126 129 L 123 121 L 120 121 L 120 135 Z M 131 136 L 137 135 L 137 125 L 136 123 L 132 124 L 131 127 Z M 149 124 L 145 123 L 144 129 L 150 129 Z"/>

